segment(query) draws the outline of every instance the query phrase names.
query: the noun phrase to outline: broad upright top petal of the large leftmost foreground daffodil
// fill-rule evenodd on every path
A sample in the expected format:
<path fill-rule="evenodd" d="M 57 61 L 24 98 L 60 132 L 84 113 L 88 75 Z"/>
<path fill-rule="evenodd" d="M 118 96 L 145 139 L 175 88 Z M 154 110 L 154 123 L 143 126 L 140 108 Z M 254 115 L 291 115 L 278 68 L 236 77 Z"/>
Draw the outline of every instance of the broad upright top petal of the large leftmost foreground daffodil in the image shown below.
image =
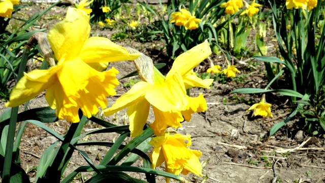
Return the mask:
<path fill-rule="evenodd" d="M 76 58 L 90 33 L 89 17 L 75 8 L 68 8 L 63 21 L 55 24 L 48 34 L 57 60 Z"/>

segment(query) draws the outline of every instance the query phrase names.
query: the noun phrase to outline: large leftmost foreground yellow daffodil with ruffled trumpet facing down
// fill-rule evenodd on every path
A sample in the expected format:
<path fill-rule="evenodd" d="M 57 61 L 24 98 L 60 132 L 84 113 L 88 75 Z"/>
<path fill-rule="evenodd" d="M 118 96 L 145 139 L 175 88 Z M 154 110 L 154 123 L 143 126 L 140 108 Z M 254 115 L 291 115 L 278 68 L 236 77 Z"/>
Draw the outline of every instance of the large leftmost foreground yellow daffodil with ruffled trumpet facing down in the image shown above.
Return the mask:
<path fill-rule="evenodd" d="M 45 99 L 56 109 L 59 119 L 78 122 L 78 110 L 90 117 L 105 108 L 108 96 L 116 94 L 119 84 L 114 68 L 100 72 L 101 64 L 119 60 L 134 60 L 140 54 L 127 50 L 109 39 L 91 37 L 89 17 L 79 9 L 68 8 L 66 18 L 49 31 L 48 41 L 57 65 L 48 70 L 24 73 L 11 93 L 6 106 L 14 107 L 46 90 Z M 94 69 L 95 68 L 95 69 Z M 96 70 L 99 69 L 100 71 Z"/>

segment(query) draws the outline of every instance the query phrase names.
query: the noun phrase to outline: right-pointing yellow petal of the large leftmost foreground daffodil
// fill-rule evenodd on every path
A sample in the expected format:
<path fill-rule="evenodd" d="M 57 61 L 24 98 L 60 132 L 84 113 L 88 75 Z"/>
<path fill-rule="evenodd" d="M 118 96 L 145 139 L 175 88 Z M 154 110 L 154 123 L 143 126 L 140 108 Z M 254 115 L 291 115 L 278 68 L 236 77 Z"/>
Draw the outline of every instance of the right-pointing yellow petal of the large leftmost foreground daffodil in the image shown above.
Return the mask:
<path fill-rule="evenodd" d="M 107 38 L 91 37 L 86 40 L 80 51 L 80 58 L 85 63 L 107 63 L 122 60 L 135 60 L 141 53 L 128 53 Z"/>

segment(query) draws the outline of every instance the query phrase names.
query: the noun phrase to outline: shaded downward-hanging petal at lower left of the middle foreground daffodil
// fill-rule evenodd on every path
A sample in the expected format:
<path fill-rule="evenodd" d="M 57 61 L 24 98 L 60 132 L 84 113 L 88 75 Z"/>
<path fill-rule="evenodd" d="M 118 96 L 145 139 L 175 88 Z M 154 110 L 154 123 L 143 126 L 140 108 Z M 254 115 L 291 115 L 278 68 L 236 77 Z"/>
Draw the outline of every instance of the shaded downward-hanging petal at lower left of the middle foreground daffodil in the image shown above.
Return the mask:
<path fill-rule="evenodd" d="M 130 120 L 129 129 L 131 131 L 131 137 L 136 137 L 142 133 L 143 127 L 147 122 L 149 109 L 150 103 L 145 99 L 127 107 L 127 115 Z"/>

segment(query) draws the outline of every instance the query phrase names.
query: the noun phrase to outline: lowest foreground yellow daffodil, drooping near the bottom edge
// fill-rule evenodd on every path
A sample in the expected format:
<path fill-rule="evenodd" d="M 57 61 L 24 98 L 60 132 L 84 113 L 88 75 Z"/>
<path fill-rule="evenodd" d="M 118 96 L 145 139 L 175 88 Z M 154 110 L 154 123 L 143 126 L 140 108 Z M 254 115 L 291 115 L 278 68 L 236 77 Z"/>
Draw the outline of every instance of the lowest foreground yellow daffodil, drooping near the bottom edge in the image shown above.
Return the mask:
<path fill-rule="evenodd" d="M 185 140 L 187 143 L 185 143 Z M 149 144 L 154 148 L 151 154 L 152 168 L 158 167 L 165 162 L 165 171 L 173 174 L 188 174 L 189 172 L 202 176 L 202 166 L 199 157 L 201 151 L 191 150 L 190 135 L 170 135 L 154 137 Z M 169 178 L 166 178 L 169 182 Z"/>

